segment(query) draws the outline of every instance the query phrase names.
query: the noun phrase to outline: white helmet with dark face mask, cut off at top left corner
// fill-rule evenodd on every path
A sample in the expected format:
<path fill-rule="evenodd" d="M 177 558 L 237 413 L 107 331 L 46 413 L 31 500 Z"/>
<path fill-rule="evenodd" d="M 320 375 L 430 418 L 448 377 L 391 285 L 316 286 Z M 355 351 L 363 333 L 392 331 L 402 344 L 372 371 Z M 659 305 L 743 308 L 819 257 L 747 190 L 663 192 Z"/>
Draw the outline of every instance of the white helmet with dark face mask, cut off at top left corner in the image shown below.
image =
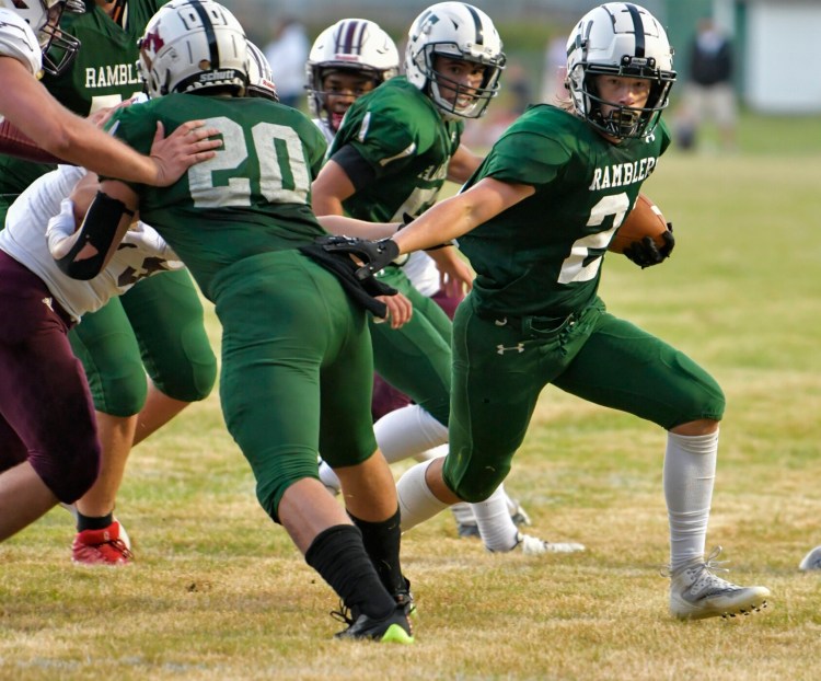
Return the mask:
<path fill-rule="evenodd" d="M 82 14 L 85 11 L 83 0 L 0 0 L 0 9 L 8 9 L 21 16 L 31 27 L 39 43 L 42 69 L 51 76 L 62 73 L 74 60 L 80 49 L 80 41 L 58 31 L 63 11 Z M 56 48 L 59 59 L 47 53 Z M 24 60 L 28 66 L 28 60 Z M 37 68 L 35 74 L 39 72 Z"/>

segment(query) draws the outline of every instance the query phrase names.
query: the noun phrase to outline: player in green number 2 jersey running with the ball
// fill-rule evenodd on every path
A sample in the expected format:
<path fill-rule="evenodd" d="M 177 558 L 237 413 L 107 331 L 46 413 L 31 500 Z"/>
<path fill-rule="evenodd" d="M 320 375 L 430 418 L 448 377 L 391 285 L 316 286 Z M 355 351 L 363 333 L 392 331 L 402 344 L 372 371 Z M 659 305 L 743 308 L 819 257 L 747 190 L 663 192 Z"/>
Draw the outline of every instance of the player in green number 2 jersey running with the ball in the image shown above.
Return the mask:
<path fill-rule="evenodd" d="M 672 49 L 646 9 L 610 2 L 578 22 L 567 55 L 564 105 L 525 112 L 460 194 L 379 243 L 368 267 L 459 238 L 477 272 L 453 325 L 452 453 L 400 480 L 402 527 L 488 497 L 554 384 L 667 430 L 671 614 L 760 610 L 765 587 L 718 577 L 720 550 L 704 555 L 721 389 L 598 297 L 608 244 L 670 143 L 661 113 L 675 80 Z"/>

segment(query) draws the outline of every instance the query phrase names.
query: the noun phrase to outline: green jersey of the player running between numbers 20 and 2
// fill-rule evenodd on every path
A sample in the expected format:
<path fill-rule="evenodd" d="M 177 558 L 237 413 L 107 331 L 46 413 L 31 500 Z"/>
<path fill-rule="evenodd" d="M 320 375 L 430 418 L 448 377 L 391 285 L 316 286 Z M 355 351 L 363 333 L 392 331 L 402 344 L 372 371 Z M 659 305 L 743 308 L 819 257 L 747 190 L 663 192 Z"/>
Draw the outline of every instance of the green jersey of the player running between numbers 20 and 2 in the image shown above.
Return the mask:
<path fill-rule="evenodd" d="M 359 97 L 345 115 L 329 155 L 351 145 L 375 180 L 343 203 L 360 220 L 392 222 L 436 203 L 464 125 L 446 122 L 430 99 L 397 77 Z"/>

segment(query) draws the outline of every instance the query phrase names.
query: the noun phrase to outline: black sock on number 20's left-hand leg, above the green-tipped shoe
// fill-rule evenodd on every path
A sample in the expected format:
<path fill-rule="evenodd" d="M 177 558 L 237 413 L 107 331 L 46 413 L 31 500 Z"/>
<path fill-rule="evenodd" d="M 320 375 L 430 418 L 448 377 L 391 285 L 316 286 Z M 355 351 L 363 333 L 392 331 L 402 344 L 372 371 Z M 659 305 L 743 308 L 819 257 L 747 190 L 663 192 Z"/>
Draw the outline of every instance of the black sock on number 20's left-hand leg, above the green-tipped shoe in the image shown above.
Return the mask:
<path fill-rule="evenodd" d="M 396 607 L 365 551 L 361 532 L 354 526 L 337 524 L 320 532 L 305 552 L 305 563 L 339 595 L 354 620 L 360 613 L 381 620 Z"/>

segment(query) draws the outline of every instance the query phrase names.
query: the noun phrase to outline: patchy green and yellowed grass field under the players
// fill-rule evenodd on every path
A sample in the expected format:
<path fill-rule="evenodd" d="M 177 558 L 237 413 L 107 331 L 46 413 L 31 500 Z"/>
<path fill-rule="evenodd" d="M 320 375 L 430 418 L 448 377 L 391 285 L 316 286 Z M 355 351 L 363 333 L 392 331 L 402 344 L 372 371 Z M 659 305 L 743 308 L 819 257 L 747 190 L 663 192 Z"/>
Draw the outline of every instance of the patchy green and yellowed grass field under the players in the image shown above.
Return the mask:
<path fill-rule="evenodd" d="M 73 567 L 61 509 L 0 546 L 0 679 L 818 679 L 821 575 L 797 570 L 821 544 L 818 126 L 747 118 L 749 151 L 668 154 L 645 191 L 673 257 L 610 256 L 602 285 L 724 386 L 708 546 L 766 612 L 669 617 L 663 432 L 547 389 L 508 485 L 535 532 L 588 551 L 487 554 L 442 513 L 403 542 L 416 645 L 336 642 L 336 599 L 257 507 L 215 394 L 132 454 L 134 565 Z"/>

